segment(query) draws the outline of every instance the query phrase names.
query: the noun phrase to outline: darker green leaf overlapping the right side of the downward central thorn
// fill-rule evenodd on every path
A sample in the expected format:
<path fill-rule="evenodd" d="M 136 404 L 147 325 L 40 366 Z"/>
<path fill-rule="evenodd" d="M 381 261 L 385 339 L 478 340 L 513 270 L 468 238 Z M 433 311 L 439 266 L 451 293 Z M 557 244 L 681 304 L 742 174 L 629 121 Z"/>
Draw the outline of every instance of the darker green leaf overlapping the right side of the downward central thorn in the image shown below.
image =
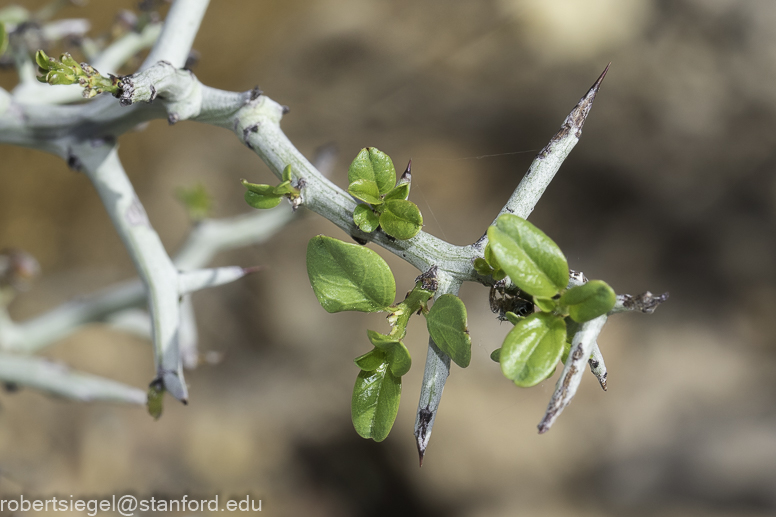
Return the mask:
<path fill-rule="evenodd" d="M 469 366 L 472 340 L 466 328 L 466 306 L 460 298 L 443 294 L 426 314 L 426 325 L 431 339 L 461 368 Z"/>

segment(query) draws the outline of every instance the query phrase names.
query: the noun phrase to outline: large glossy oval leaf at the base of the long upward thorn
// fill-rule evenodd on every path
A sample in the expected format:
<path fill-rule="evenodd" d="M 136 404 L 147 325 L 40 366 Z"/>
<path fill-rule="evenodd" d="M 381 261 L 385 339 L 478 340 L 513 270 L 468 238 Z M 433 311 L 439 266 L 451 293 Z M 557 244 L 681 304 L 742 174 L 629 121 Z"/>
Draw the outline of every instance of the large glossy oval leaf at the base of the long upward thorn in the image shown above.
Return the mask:
<path fill-rule="evenodd" d="M 501 268 L 526 293 L 552 298 L 568 285 L 569 266 L 563 252 L 522 217 L 502 215 L 488 228 L 488 238 Z"/>

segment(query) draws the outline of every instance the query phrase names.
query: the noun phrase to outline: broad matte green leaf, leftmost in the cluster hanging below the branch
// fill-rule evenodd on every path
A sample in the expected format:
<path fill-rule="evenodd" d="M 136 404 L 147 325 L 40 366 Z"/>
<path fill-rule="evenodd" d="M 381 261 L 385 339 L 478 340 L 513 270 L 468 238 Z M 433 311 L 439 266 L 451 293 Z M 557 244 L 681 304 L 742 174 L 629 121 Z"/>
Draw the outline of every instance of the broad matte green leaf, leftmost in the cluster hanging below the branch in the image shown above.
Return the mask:
<path fill-rule="evenodd" d="M 307 244 L 307 274 L 327 312 L 385 310 L 396 282 L 380 255 L 357 244 L 319 235 Z"/>

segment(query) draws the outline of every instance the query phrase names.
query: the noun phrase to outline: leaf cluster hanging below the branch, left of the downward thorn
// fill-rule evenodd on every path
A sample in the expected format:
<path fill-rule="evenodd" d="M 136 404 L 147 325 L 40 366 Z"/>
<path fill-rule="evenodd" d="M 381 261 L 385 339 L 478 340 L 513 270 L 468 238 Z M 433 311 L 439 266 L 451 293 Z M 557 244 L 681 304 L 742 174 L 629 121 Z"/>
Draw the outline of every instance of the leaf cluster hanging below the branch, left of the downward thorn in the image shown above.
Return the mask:
<path fill-rule="evenodd" d="M 388 264 L 369 248 L 319 235 L 307 245 L 307 273 L 315 296 L 328 312 L 387 312 L 387 334 L 367 331 L 372 349 L 355 359 L 360 368 L 353 389 L 351 416 L 361 436 L 382 441 L 396 419 L 401 378 L 412 365 L 403 339 L 413 314 L 423 314 L 429 334 L 442 351 L 465 368 L 471 359 L 466 308 L 456 296 L 440 296 L 436 271 L 419 276 L 403 301 L 394 304 L 396 281 Z"/>

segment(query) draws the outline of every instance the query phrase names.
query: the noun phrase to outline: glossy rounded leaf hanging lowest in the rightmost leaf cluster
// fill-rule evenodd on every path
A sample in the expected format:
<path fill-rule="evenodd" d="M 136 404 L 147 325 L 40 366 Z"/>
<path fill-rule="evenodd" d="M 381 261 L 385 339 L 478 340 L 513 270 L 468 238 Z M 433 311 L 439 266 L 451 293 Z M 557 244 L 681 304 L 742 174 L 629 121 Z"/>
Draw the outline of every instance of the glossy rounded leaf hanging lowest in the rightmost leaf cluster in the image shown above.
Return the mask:
<path fill-rule="evenodd" d="M 523 318 L 504 339 L 501 371 L 507 379 L 527 388 L 550 375 L 563 354 L 566 323 L 563 318 L 537 312 Z"/>

